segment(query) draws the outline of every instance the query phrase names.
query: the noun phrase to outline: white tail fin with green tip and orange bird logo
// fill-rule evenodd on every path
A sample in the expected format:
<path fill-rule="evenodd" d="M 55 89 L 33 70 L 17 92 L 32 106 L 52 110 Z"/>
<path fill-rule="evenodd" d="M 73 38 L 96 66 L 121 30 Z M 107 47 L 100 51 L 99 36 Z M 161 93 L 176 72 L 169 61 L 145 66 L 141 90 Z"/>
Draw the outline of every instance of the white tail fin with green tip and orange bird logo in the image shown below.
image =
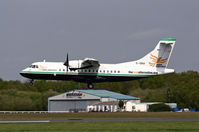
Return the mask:
<path fill-rule="evenodd" d="M 149 54 L 136 61 L 136 63 L 144 63 L 150 67 L 166 68 L 174 48 L 176 39 L 163 38 L 159 41 L 158 45 Z"/>

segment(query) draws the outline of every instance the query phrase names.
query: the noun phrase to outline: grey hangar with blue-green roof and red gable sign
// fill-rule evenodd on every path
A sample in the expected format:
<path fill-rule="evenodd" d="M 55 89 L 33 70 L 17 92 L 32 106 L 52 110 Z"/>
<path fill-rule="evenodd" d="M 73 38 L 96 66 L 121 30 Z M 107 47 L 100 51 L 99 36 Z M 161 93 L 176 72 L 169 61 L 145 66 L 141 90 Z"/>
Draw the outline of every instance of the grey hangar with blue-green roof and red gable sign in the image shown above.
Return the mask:
<path fill-rule="evenodd" d="M 107 90 L 73 90 L 48 98 L 48 111 L 88 112 L 91 104 L 131 101 L 140 103 L 140 98 Z M 115 107 L 114 107 L 115 109 Z"/>

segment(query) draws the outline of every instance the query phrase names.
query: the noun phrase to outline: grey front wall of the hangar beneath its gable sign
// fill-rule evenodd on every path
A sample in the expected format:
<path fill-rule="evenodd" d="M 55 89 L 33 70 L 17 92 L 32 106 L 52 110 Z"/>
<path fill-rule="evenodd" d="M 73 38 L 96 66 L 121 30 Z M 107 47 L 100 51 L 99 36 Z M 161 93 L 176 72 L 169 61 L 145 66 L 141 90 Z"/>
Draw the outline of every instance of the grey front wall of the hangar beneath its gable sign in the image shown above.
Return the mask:
<path fill-rule="evenodd" d="M 50 100 L 48 111 L 87 112 L 87 106 L 100 100 Z"/>

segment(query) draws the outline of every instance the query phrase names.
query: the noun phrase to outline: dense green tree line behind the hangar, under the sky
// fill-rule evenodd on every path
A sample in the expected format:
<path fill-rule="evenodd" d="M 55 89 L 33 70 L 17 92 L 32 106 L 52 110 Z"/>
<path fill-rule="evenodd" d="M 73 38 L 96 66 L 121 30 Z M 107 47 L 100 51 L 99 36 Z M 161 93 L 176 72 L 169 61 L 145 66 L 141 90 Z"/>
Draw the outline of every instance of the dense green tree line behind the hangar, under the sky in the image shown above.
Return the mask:
<path fill-rule="evenodd" d="M 142 102 L 177 103 L 178 108 L 199 110 L 199 73 L 186 71 L 128 82 L 94 84 L 105 89 L 141 98 Z M 0 79 L 0 110 L 47 110 L 48 97 L 74 89 L 87 89 L 87 84 L 74 81 L 5 81 Z"/>

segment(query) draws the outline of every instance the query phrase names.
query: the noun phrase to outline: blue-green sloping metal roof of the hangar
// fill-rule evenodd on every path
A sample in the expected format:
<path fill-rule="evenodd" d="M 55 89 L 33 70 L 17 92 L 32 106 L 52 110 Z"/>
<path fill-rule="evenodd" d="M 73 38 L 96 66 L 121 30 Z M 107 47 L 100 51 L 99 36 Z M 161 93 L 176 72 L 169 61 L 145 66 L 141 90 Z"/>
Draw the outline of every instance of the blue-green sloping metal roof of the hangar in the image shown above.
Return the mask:
<path fill-rule="evenodd" d="M 120 93 L 115 93 L 115 92 L 111 92 L 107 90 L 75 90 L 75 91 L 99 96 L 102 98 L 115 98 L 118 100 L 139 100 L 140 99 L 140 98 L 136 98 L 136 97 L 120 94 Z"/>

